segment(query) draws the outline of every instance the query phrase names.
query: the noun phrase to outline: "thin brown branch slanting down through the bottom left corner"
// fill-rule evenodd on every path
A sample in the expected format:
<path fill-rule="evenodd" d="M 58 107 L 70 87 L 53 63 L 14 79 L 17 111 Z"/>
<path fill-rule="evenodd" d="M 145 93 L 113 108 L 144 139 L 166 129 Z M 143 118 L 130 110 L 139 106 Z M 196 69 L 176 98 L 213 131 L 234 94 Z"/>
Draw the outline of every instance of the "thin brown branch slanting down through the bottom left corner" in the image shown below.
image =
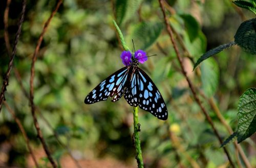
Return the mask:
<path fill-rule="evenodd" d="M 25 139 L 25 141 L 26 141 L 26 144 L 27 144 L 29 153 L 30 153 L 30 155 L 32 156 L 32 159 L 33 159 L 33 161 L 34 161 L 34 163 L 35 163 L 35 166 L 36 166 L 36 167 L 39 167 L 39 165 L 38 165 L 38 163 L 37 163 L 37 161 L 36 161 L 36 159 L 35 159 L 35 155 L 34 155 L 34 153 L 33 153 L 33 151 L 32 151 L 32 148 L 31 148 L 31 146 L 30 146 L 30 144 L 29 144 L 29 138 L 28 138 L 28 136 L 27 136 L 27 133 L 26 133 L 24 127 L 22 126 L 22 123 L 21 123 L 20 120 L 16 117 L 14 111 L 11 109 L 11 107 L 8 105 L 8 103 L 7 103 L 6 101 L 4 101 L 4 104 L 5 104 L 6 108 L 7 108 L 7 110 L 9 111 L 9 113 L 12 115 L 14 121 L 17 123 L 17 125 L 18 125 L 20 131 L 22 131 L 23 137 L 24 137 L 24 139 Z"/>

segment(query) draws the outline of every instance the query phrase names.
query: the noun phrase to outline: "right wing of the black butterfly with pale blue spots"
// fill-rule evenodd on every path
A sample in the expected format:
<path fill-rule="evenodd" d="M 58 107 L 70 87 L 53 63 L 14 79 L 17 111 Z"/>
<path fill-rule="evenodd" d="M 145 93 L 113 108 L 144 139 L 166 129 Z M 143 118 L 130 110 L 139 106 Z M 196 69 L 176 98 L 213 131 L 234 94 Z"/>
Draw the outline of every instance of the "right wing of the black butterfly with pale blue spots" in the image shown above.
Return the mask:
<path fill-rule="evenodd" d="M 131 106 L 138 106 L 161 120 L 168 118 L 163 97 L 155 83 L 139 67 L 133 73 L 130 83 L 124 92 L 124 98 Z"/>

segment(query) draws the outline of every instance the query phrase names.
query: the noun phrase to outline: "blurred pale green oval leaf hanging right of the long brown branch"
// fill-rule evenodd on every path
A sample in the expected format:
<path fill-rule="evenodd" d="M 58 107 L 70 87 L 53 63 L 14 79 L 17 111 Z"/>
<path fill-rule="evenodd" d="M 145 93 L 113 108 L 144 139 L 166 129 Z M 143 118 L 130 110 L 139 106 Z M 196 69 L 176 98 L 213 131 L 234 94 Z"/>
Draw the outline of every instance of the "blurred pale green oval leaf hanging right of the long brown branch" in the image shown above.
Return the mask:
<path fill-rule="evenodd" d="M 202 87 L 205 95 L 211 97 L 219 85 L 219 67 L 214 59 L 209 59 L 202 64 Z"/>

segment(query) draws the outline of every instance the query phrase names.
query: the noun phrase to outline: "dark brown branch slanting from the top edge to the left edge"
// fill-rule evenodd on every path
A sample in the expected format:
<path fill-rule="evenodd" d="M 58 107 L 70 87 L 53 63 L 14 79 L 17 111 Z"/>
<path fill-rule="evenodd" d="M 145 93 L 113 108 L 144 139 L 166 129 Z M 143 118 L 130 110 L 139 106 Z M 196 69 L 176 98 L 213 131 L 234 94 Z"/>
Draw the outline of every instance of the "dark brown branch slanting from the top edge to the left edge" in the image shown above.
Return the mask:
<path fill-rule="evenodd" d="M 18 22 L 18 31 L 15 35 L 14 45 L 13 45 L 13 49 L 12 49 L 12 57 L 10 58 L 8 70 L 5 74 L 4 81 L 3 81 L 3 86 L 2 86 L 2 90 L 1 90 L 1 94 L 0 94 L 0 112 L 1 112 L 3 100 L 5 100 L 6 87 L 8 86 L 9 76 L 10 76 L 13 61 L 15 58 L 19 35 L 22 32 L 22 23 L 24 21 L 25 10 L 26 10 L 26 0 L 24 0 L 23 4 L 22 4 L 22 12 L 21 12 L 21 16 L 20 16 L 20 19 Z"/>

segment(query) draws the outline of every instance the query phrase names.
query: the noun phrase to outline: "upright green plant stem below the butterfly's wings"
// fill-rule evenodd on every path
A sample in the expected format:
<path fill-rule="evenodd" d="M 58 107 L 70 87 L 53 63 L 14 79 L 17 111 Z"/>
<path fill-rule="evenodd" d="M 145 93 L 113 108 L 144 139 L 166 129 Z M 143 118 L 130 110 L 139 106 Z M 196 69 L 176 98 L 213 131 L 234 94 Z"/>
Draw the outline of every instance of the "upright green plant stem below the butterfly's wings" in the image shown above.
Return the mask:
<path fill-rule="evenodd" d="M 141 152 L 141 148 L 140 148 L 140 135 L 139 135 L 139 117 L 138 117 L 138 111 L 139 111 L 139 107 L 133 107 L 133 126 L 134 126 L 134 144 L 135 144 L 135 148 L 136 148 L 136 159 L 137 159 L 137 163 L 138 163 L 138 167 L 144 167 L 143 164 L 143 159 L 142 159 L 142 152 Z"/>

